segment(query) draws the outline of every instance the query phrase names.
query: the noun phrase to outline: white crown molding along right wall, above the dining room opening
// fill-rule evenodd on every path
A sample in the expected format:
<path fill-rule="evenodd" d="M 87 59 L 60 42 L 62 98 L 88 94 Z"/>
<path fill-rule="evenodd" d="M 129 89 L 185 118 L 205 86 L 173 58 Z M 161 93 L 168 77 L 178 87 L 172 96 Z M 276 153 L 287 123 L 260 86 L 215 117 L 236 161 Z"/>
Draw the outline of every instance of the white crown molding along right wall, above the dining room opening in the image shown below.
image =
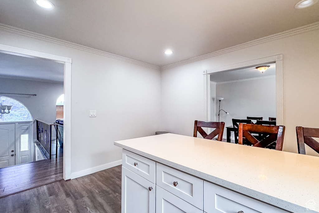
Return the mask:
<path fill-rule="evenodd" d="M 189 63 L 192 63 L 192 62 L 204 60 L 204 59 L 211 58 L 211 57 L 214 57 L 214 56 L 219 56 L 219 55 L 226 54 L 226 53 L 229 53 L 229 52 L 233 52 L 233 51 L 236 51 L 236 50 L 252 47 L 252 46 L 255 46 L 255 45 L 258 45 L 258 44 L 263 44 L 263 43 L 266 43 L 266 42 L 275 41 L 275 40 L 278 40 L 278 39 L 282 39 L 282 38 L 286 38 L 286 37 L 289 37 L 289 36 L 306 33 L 306 32 L 317 30 L 317 29 L 319 29 L 319 22 L 308 24 L 308 25 L 305 25 L 305 26 L 302 26 L 302 27 L 297 27 L 297 28 L 294 28 L 294 29 L 291 29 L 291 30 L 286 30 L 286 31 L 281 32 L 281 33 L 269 35 L 269 36 L 266 36 L 266 37 L 263 37 L 263 38 L 259 38 L 259 39 L 256 39 L 256 40 L 253 40 L 253 41 L 250 41 L 250 42 L 238 44 L 238 45 L 235 45 L 233 47 L 228 47 L 228 48 L 217 50 L 215 52 L 211 52 L 211 53 L 208 53 L 208 54 L 205 54 L 205 55 L 202 55 L 202 56 L 197 56 L 197 57 L 189 58 L 189 59 L 177 62 L 177 63 L 173 63 L 173 64 L 166 65 L 166 66 L 162 66 L 161 70 L 173 68 L 173 67 L 180 66 L 180 65 L 189 64 Z"/>

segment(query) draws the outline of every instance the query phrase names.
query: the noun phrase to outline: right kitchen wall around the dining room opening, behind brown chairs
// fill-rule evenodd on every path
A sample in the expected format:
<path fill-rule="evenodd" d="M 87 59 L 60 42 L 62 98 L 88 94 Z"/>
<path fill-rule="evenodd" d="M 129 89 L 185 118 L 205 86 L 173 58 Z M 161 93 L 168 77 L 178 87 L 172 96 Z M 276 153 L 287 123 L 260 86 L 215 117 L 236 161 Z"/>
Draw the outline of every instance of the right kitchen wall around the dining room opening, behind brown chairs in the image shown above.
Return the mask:
<path fill-rule="evenodd" d="M 163 70 L 162 129 L 192 135 L 194 120 L 204 118 L 204 70 L 283 54 L 283 150 L 297 152 L 296 126 L 319 128 L 318 38 L 314 30 Z"/>

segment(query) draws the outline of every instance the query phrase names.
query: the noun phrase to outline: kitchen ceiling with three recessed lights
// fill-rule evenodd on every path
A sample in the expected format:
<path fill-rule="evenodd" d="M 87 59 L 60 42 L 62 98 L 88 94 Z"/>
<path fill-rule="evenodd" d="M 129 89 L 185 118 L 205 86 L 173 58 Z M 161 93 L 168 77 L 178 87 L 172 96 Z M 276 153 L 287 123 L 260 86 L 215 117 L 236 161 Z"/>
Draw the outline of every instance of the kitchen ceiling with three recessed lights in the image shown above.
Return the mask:
<path fill-rule="evenodd" d="M 319 21 L 319 3 L 299 0 L 51 2 L 2 0 L 0 23 L 160 67 Z"/>

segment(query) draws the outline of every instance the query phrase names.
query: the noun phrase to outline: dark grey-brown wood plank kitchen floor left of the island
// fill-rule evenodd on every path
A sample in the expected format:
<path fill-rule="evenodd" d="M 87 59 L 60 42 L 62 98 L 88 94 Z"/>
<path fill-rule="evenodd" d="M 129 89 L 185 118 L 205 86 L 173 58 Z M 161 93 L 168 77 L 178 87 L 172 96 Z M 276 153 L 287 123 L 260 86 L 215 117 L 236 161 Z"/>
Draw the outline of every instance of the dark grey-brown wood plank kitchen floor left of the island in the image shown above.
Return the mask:
<path fill-rule="evenodd" d="M 121 212 L 122 166 L 58 181 L 0 199 L 0 212 Z"/>

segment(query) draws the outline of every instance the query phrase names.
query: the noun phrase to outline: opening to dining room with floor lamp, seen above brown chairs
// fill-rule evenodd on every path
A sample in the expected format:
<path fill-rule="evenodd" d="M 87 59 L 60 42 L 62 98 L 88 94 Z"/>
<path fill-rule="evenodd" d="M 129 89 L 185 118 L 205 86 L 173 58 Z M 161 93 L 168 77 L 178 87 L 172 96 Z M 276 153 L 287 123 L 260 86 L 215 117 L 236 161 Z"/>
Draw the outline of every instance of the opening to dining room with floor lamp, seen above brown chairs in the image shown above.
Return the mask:
<path fill-rule="evenodd" d="M 263 66 L 263 72 L 253 65 L 210 74 L 209 121 L 225 122 L 223 139 L 228 142 L 237 141 L 233 130 L 238 120 L 255 124 L 276 119 L 276 64 Z"/>

